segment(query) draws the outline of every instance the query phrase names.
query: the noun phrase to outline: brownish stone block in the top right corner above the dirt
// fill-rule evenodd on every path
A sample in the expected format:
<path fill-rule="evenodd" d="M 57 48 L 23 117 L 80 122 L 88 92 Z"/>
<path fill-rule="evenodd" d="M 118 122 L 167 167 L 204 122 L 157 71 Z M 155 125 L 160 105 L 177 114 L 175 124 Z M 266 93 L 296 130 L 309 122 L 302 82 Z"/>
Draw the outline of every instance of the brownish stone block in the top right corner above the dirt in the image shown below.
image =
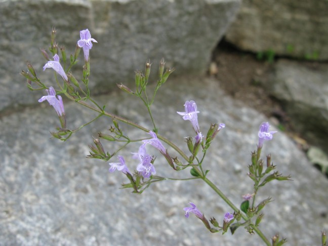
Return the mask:
<path fill-rule="evenodd" d="M 226 39 L 242 50 L 328 59 L 328 2 L 243 0 Z"/>

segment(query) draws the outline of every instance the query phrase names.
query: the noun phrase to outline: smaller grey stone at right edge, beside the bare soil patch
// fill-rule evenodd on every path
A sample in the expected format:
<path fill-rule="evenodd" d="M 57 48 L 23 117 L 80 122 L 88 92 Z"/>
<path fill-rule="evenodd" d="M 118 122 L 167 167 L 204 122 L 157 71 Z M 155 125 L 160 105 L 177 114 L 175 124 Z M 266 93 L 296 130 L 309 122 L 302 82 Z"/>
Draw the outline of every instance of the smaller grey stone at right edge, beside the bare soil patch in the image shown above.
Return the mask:
<path fill-rule="evenodd" d="M 328 151 L 328 66 L 279 60 L 266 87 L 312 144 Z"/>

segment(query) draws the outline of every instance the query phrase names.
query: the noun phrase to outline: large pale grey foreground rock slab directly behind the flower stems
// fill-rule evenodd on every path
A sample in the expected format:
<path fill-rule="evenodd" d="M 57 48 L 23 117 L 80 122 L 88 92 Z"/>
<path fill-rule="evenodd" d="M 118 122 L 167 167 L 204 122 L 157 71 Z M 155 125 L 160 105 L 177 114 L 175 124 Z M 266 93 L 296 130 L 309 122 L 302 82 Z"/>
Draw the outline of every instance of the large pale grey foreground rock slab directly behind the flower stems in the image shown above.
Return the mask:
<path fill-rule="evenodd" d="M 210 122 L 224 122 L 222 130 L 207 153 L 208 177 L 236 204 L 241 195 L 252 190 L 245 175 L 250 152 L 256 148 L 258 126 L 267 120 L 257 111 L 224 95 L 210 79 L 170 79 L 153 105 L 159 133 L 183 146 L 194 134 L 190 122 L 176 111 L 186 100 L 195 100 L 200 111 L 199 124 L 206 132 Z M 151 128 L 142 103 L 127 94 L 115 92 L 96 98 L 107 110 Z M 93 115 L 65 103 L 69 128 L 78 127 Z M 221 222 L 231 211 L 201 181 L 155 183 L 141 195 L 119 189 L 126 178 L 110 174 L 106 162 L 86 159 L 91 135 L 106 131 L 111 120 L 102 118 L 73 135 L 66 143 L 50 139 L 49 131 L 59 124 L 55 111 L 47 104 L 5 116 L 0 121 L 0 244 L 2 245 L 263 245 L 257 235 L 242 228 L 231 236 L 212 234 L 195 217 L 184 218 L 189 201 L 208 217 Z M 121 125 L 126 131 L 127 126 Z M 148 135 L 132 130 L 131 138 Z M 109 152 L 115 148 L 103 143 Z M 166 144 L 164 144 L 167 146 Z M 131 144 L 121 152 L 132 170 L 137 163 Z M 189 171 L 173 172 L 155 149 L 158 175 L 189 177 Z M 169 148 L 174 155 L 174 151 Z M 287 237 L 288 245 L 319 245 L 321 230 L 328 229 L 325 179 L 314 170 L 304 154 L 282 132 L 266 142 L 263 154 L 271 153 L 280 172 L 294 181 L 272 182 L 259 192 L 259 198 L 273 198 L 264 210 L 261 229 L 271 237 L 276 232 Z M 113 159 L 115 161 L 115 158 Z"/>

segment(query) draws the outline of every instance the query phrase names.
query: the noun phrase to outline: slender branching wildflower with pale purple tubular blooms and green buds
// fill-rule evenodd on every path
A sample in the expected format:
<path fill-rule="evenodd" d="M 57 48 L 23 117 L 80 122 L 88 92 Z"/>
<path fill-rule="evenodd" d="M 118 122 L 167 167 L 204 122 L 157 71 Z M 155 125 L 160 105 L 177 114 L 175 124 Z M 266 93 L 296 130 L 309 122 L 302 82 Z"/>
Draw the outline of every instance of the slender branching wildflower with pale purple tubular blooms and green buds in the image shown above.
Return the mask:
<path fill-rule="evenodd" d="M 54 60 L 49 59 L 49 54 L 46 50 L 41 50 L 43 56 L 46 58 L 44 70 L 46 70 L 46 68 L 53 68 L 55 71 L 54 81 L 49 82 L 49 85 L 40 81 L 35 69 L 29 62 L 27 62 L 28 71 L 21 72 L 21 74 L 27 79 L 27 87 L 30 90 L 45 90 L 48 93 L 47 96 L 40 98 L 39 102 L 47 100 L 50 105 L 55 108 L 60 119 L 60 127 L 57 127 L 57 132 L 51 133 L 54 138 L 66 141 L 73 133 L 91 124 L 96 119 L 103 116 L 109 117 L 112 119 L 113 125 L 108 132 L 99 132 L 97 138 L 93 139 L 94 145 L 89 146 L 90 154 L 87 157 L 101 159 L 108 163 L 110 173 L 119 171 L 120 174 L 127 176 L 127 183 L 122 185 L 123 188 L 132 189 L 134 193 L 141 194 L 154 182 L 165 180 L 202 180 L 209 185 L 219 197 L 221 197 L 220 201 L 228 204 L 230 211 L 227 211 L 224 215 L 218 215 L 219 218 L 221 218 L 219 220 L 216 220 L 214 217 L 211 217 L 211 219 L 208 220 L 201 212 L 201 208 L 196 207 L 196 203 L 189 202 L 191 207 L 185 207 L 183 209 L 186 218 L 188 218 L 190 214 L 194 214 L 212 233 L 222 232 L 222 234 L 224 234 L 230 229 L 233 234 L 236 229 L 243 227 L 250 234 L 258 234 L 265 245 L 278 246 L 286 241 L 284 238 L 280 239 L 278 234 L 273 235 L 271 240 L 269 240 L 260 229 L 260 223 L 264 216 L 264 208 L 266 207 L 266 204 L 272 201 L 271 197 L 267 197 L 260 201 L 256 199 L 261 187 L 269 184 L 273 180 L 291 180 L 290 176 L 283 176 L 276 171 L 276 166 L 271 162 L 270 154 L 267 155 L 264 160 L 261 158 L 261 151 L 264 142 L 272 140 L 273 134 L 276 133 L 275 131 L 269 131 L 270 126 L 268 122 L 263 122 L 260 126 L 257 149 L 252 152 L 250 165 L 248 166 L 248 176 L 254 183 L 253 187 L 250 187 L 249 189 L 251 194 L 240 194 L 240 204 L 234 204 L 228 198 L 229 194 L 224 194 L 217 185 L 208 179 L 207 174 L 209 170 L 206 170 L 206 162 L 204 161 L 204 159 L 206 159 L 206 153 L 210 151 L 211 143 L 214 141 L 217 134 L 225 128 L 223 123 L 210 123 L 209 129 L 207 132 L 206 130 L 203 131 L 203 133 L 206 133 L 203 135 L 198 124 L 198 118 L 201 118 L 201 109 L 197 108 L 195 101 L 189 100 L 181 102 L 181 107 L 184 105 L 184 112 L 177 111 L 179 115 L 182 115 L 184 120 L 190 121 L 190 129 L 194 130 L 190 133 L 192 137 L 186 138 L 186 145 L 189 153 L 185 153 L 177 145 L 160 134 L 160 128 L 157 126 L 153 117 L 151 105 L 154 102 L 157 91 L 166 83 L 168 77 L 174 71 L 173 68 L 165 69 L 164 59 L 159 63 L 158 79 L 153 91 L 149 92 L 147 87 L 151 70 L 151 63 L 149 61 L 146 62 L 145 70 L 143 72 L 136 71 L 135 88 L 130 89 L 122 84 L 117 85 L 122 91 L 141 100 L 147 108 L 153 129 L 146 129 L 143 126 L 138 125 L 137 122 L 107 112 L 105 106 L 100 106 L 94 99 L 92 99 L 89 90 L 90 53 L 92 52 L 92 42 L 97 43 L 97 41 L 91 37 L 88 29 L 80 31 L 80 39 L 77 40 L 75 44 L 75 52 L 73 55 L 70 55 L 69 59 L 66 58 L 64 47 L 58 49 L 58 44 L 55 39 L 56 30 L 53 29 L 49 51 L 52 53 Z M 71 68 L 77 64 L 81 48 L 84 51 L 85 64 L 81 68 L 81 80 L 77 80 L 72 74 Z M 60 61 L 58 54 L 61 55 L 62 62 Z M 62 79 L 58 78 L 58 74 Z M 71 129 L 70 126 L 66 125 L 66 117 L 69 117 L 69 115 L 65 114 L 62 96 L 78 105 L 97 112 L 98 115 L 84 125 L 76 129 Z M 181 108 L 177 108 L 177 110 L 181 110 Z M 177 117 L 179 117 L 178 114 L 176 115 Z M 120 124 L 123 124 L 123 126 Z M 182 122 L 181 124 L 188 124 L 188 122 Z M 130 125 L 139 129 L 141 132 L 141 138 L 131 139 L 125 132 L 124 125 Z M 148 133 L 150 136 L 147 136 L 144 133 Z M 117 142 L 118 147 L 114 152 L 109 153 L 109 151 L 105 150 L 103 147 L 101 143 L 103 141 Z M 129 161 L 128 163 L 124 156 L 119 154 L 119 152 L 133 142 L 139 142 L 140 145 L 139 148 L 136 149 L 136 152 L 131 153 L 131 157 L 135 161 Z M 167 174 L 158 174 L 156 172 L 156 166 L 165 165 L 165 163 L 156 163 L 156 156 L 147 153 L 147 146 L 149 146 L 149 148 L 154 148 L 157 155 L 163 155 L 165 157 L 167 164 L 172 168 L 172 172 L 184 172 L 185 178 L 174 179 L 160 176 Z M 172 149 L 170 149 L 170 153 L 168 152 L 169 146 Z M 115 161 L 116 158 L 114 158 L 114 161 L 111 160 L 115 156 L 118 159 L 118 162 Z M 109 162 L 109 160 L 111 161 Z M 133 169 L 134 171 L 131 172 L 128 167 L 130 170 Z M 185 172 L 186 170 L 189 172 Z M 187 200 L 188 197 L 186 197 L 186 201 Z M 183 210 L 181 208 L 181 211 Z M 323 234 L 324 233 L 322 233 L 322 237 Z"/>

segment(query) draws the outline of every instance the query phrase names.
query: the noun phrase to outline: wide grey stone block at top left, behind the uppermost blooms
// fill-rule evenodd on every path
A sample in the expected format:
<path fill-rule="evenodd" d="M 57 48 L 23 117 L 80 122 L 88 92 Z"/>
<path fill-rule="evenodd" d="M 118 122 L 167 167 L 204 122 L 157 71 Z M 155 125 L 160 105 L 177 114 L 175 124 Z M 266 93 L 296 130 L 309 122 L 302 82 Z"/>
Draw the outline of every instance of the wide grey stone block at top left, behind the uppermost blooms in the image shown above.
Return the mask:
<path fill-rule="evenodd" d="M 98 41 L 91 51 L 91 86 L 103 93 L 115 83 L 133 81 L 134 71 L 143 69 L 147 59 L 166 58 L 176 74 L 204 73 L 239 4 L 240 0 L 0 1 L 0 110 L 36 101 L 25 95 L 19 75 L 26 70 L 26 60 L 39 77 L 54 83 L 53 73 L 42 71 L 45 59 L 38 50 L 49 47 L 53 26 L 68 55 L 79 30 L 90 29 Z M 82 65 L 81 60 L 78 66 Z"/>

